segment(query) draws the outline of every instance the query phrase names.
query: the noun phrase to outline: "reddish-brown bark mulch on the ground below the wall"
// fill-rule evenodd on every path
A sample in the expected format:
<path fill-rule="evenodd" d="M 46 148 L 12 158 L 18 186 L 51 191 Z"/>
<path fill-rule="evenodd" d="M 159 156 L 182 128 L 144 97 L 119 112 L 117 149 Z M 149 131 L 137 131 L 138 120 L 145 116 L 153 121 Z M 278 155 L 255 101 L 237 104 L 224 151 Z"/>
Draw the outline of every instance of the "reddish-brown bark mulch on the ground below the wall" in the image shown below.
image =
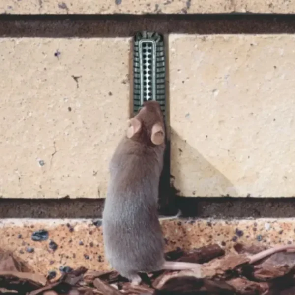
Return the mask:
<path fill-rule="evenodd" d="M 193 271 L 143 274 L 132 287 L 116 271 L 67 269 L 58 279 L 31 273 L 12 253 L 0 252 L 0 294 L 5 295 L 295 295 L 295 252 L 277 252 L 251 264 L 266 248 L 236 244 L 225 254 L 217 244 L 190 252 L 166 253 L 166 259 L 202 264 L 203 278 Z M 157 290 L 156 290 L 157 289 Z"/>

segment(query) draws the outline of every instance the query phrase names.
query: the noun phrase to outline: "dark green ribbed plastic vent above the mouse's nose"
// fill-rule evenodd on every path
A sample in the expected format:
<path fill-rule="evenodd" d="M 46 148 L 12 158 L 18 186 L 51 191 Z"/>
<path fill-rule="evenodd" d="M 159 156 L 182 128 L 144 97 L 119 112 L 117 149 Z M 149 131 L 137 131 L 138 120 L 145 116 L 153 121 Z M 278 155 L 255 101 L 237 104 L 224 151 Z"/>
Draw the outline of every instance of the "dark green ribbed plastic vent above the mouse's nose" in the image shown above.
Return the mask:
<path fill-rule="evenodd" d="M 133 44 L 133 112 L 146 100 L 160 103 L 166 115 L 165 50 L 163 35 L 138 32 Z"/>

